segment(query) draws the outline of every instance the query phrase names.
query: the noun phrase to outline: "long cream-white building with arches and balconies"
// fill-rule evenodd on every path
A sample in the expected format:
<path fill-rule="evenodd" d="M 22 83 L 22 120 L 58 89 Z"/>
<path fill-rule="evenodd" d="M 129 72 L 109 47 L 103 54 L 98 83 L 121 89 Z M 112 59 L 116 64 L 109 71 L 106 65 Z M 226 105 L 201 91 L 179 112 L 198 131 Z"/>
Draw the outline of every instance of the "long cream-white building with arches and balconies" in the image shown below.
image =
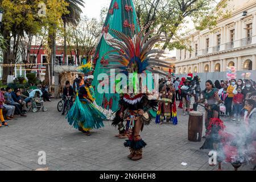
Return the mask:
<path fill-rule="evenodd" d="M 213 31 L 191 31 L 192 52 L 177 50 L 176 73 L 256 70 L 256 0 L 230 0 L 232 14 L 219 19 Z"/>

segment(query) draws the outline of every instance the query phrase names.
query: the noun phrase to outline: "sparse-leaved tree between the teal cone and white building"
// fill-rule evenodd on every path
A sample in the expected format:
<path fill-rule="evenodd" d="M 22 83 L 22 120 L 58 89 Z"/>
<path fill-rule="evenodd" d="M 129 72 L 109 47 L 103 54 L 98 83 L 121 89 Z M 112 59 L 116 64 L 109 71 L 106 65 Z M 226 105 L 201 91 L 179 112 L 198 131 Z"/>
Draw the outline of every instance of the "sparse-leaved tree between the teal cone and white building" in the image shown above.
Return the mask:
<path fill-rule="evenodd" d="M 216 26 L 218 18 L 228 15 L 228 11 L 221 11 L 226 7 L 227 1 L 217 3 L 216 0 L 135 0 L 135 7 L 141 27 L 153 22 L 150 26 L 153 32 L 165 35 L 164 44 L 158 46 L 162 49 L 174 49 L 185 48 L 185 40 L 181 37 L 185 35 L 185 23 L 189 19 L 195 23 L 197 30 L 211 29 Z"/>

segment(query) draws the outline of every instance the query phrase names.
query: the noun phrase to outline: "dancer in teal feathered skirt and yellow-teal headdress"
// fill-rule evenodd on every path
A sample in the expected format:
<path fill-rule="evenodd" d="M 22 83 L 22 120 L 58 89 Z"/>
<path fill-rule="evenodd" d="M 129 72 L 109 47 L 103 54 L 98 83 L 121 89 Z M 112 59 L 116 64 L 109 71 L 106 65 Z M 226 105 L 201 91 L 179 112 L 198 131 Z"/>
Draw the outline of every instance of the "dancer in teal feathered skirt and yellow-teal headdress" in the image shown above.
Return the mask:
<path fill-rule="evenodd" d="M 106 119 L 106 116 L 93 104 L 95 97 L 94 89 L 91 85 L 93 80 L 93 75 L 91 75 L 92 64 L 90 62 L 82 63 L 79 71 L 85 74 L 85 84 L 80 86 L 76 102 L 66 118 L 68 118 L 69 125 L 86 133 L 86 135 L 90 135 L 91 129 L 104 127 L 103 119 Z"/>

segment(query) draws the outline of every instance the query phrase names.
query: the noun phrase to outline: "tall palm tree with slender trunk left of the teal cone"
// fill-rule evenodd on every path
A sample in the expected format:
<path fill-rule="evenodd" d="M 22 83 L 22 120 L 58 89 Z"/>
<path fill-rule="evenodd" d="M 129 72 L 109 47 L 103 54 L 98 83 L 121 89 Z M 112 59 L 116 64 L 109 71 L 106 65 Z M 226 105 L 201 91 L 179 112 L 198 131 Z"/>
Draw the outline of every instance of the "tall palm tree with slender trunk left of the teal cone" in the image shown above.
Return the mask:
<path fill-rule="evenodd" d="M 69 3 L 67 7 L 69 13 L 62 16 L 63 24 L 64 24 L 64 60 L 67 57 L 67 35 L 66 35 L 66 26 L 67 24 L 73 24 L 76 26 L 80 19 L 82 10 L 79 7 L 84 7 L 84 0 L 66 0 Z"/>

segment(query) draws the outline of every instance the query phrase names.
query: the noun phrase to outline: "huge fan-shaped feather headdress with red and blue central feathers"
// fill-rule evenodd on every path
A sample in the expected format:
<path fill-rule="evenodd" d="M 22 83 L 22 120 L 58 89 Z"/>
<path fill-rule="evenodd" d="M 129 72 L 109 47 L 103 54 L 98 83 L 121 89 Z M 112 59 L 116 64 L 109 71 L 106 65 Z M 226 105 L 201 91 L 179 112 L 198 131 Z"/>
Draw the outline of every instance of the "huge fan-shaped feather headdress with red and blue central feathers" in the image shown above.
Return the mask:
<path fill-rule="evenodd" d="M 116 69 L 116 72 L 122 72 L 126 75 L 129 73 L 144 73 L 147 70 L 167 76 L 168 73 L 159 69 L 159 67 L 169 68 L 168 64 L 160 60 L 160 57 L 163 57 L 164 50 L 152 49 L 163 37 L 155 35 L 149 38 L 150 32 L 146 33 L 149 26 L 150 24 L 147 24 L 140 32 L 136 32 L 133 38 L 110 29 L 116 38 L 109 40 L 110 46 L 114 49 L 106 52 L 104 56 L 109 55 L 109 61 L 112 64 L 108 64 L 105 68 L 113 68 Z"/>

